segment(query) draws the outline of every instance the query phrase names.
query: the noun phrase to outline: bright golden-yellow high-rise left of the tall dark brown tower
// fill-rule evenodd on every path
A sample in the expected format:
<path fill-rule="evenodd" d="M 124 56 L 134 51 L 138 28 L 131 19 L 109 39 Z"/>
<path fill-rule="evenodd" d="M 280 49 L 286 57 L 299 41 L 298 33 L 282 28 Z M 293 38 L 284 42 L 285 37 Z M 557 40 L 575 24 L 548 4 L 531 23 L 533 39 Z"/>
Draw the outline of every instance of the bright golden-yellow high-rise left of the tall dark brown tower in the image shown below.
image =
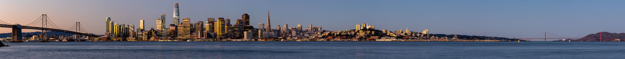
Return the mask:
<path fill-rule="evenodd" d="M 217 22 L 215 22 L 215 34 L 217 39 L 224 39 L 224 34 L 227 33 L 226 20 L 224 17 L 217 18 Z"/>

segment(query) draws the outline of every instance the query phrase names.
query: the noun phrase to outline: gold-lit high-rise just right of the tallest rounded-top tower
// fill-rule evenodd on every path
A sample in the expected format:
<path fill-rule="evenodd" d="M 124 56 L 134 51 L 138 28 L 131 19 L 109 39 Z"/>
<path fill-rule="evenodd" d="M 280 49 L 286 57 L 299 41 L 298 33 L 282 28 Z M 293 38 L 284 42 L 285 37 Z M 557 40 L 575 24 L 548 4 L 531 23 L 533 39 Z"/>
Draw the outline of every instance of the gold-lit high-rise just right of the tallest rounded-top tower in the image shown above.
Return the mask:
<path fill-rule="evenodd" d="M 189 35 L 191 35 L 191 18 L 184 17 L 183 22 L 180 25 L 183 25 L 183 32 L 179 32 L 179 34 L 181 35 L 179 35 L 178 37 L 182 37 L 181 39 L 188 39 Z"/>

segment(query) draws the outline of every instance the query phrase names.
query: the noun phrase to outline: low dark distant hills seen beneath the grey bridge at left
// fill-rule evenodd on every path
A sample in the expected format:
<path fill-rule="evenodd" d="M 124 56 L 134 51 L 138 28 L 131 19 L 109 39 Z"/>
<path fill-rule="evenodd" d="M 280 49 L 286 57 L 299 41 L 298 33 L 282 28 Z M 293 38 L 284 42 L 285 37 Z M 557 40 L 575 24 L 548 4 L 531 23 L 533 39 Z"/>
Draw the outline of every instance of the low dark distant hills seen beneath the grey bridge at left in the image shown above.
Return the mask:
<path fill-rule="evenodd" d="M 39 34 L 41 34 L 41 32 L 22 32 L 22 37 L 30 37 L 32 35 L 39 35 Z M 47 32 L 47 35 L 74 35 L 74 34 L 50 31 L 50 32 Z M 11 33 L 0 34 L 0 38 L 6 38 L 6 37 L 11 37 Z"/>

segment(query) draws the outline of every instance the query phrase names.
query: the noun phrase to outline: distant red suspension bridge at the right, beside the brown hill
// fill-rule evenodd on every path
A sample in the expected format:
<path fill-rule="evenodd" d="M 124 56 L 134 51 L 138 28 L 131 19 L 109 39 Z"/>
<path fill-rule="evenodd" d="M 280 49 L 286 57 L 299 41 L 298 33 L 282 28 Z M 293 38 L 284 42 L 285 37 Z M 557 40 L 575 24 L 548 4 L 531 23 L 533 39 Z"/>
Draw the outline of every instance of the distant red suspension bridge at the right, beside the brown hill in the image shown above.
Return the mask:
<path fill-rule="evenodd" d="M 544 42 L 547 42 L 547 39 L 599 39 L 599 42 L 603 42 L 604 39 L 606 39 L 606 40 L 616 40 L 616 39 L 610 39 L 610 38 L 603 38 L 603 32 L 599 32 L 599 38 L 562 37 L 560 35 L 551 34 L 549 32 L 544 32 L 542 34 L 544 34 L 544 37 L 541 37 L 541 38 L 526 38 L 526 39 L 522 39 L 522 40 L 531 41 L 531 39 L 544 39 Z M 555 37 L 547 37 L 547 34 L 553 35 Z"/>

